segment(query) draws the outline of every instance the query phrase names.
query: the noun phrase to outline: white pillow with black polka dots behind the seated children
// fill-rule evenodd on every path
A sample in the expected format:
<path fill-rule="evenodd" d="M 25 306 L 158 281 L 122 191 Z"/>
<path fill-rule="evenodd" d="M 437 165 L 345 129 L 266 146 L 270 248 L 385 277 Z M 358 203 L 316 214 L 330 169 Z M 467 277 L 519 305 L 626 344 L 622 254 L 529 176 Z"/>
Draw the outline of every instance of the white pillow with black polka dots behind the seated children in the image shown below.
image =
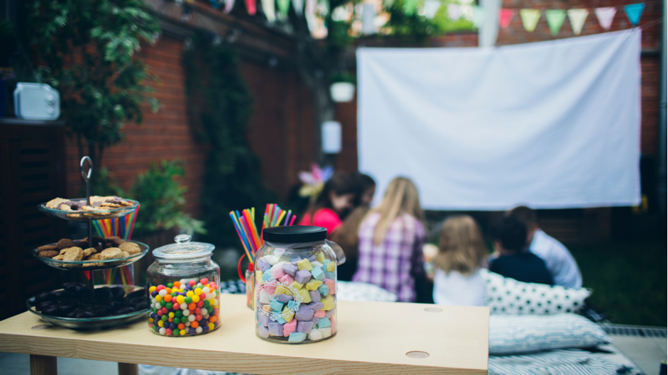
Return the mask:
<path fill-rule="evenodd" d="M 481 269 L 485 281 L 486 306 L 491 314 L 552 315 L 575 313 L 591 294 L 591 289 L 522 283 Z"/>

